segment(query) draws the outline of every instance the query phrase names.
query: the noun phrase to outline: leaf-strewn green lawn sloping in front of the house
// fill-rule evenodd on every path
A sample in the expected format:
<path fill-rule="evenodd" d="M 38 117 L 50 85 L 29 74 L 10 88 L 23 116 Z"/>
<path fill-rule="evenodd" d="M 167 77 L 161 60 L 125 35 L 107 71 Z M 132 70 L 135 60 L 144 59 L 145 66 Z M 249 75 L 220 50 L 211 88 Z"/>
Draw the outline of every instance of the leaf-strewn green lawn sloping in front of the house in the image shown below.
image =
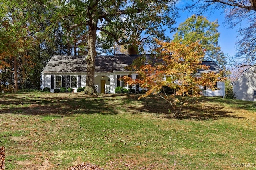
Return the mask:
<path fill-rule="evenodd" d="M 1 94 L 6 169 L 233 169 L 256 166 L 256 103 L 201 98 L 181 119 L 154 97 Z M 244 167 L 246 168 L 246 167 Z"/>

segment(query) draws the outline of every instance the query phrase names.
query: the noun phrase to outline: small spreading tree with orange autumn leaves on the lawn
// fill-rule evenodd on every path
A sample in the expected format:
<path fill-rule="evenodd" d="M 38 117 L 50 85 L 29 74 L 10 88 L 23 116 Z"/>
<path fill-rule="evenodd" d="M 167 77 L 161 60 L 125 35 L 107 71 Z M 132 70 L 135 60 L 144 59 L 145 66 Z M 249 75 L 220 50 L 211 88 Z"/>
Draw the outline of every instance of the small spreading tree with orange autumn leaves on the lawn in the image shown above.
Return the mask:
<path fill-rule="evenodd" d="M 200 86 L 214 90 L 214 84 L 220 81 L 221 74 L 209 72 L 195 76 L 198 70 L 208 69 L 202 65 L 204 49 L 198 42 L 189 44 L 175 41 L 159 42 L 159 45 L 154 61 L 147 61 L 151 64 L 145 64 L 146 60 L 144 60 L 144 65 L 139 64 L 139 68 L 138 64 L 134 65 L 134 69 L 138 69 L 139 79 L 132 80 L 130 77 L 124 79 L 129 84 L 140 84 L 142 88 L 148 89 L 141 97 L 155 95 L 166 100 L 170 104 L 170 113 L 174 117 L 179 117 L 183 107 L 192 97 L 202 95 Z"/>

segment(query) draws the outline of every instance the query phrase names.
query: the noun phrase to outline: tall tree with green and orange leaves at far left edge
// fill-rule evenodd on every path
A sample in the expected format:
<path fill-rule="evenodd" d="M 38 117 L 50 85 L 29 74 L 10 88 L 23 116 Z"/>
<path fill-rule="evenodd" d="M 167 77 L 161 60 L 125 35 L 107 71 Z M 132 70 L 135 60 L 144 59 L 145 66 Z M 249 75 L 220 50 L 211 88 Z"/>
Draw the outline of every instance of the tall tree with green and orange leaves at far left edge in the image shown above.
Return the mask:
<path fill-rule="evenodd" d="M 50 1 L 3 0 L 0 3 L 0 57 L 3 63 L 0 69 L 13 70 L 15 92 L 18 83 L 24 83 L 28 72 L 36 65 L 30 54 L 35 53 L 40 43 L 44 31 L 41 26 L 48 22 L 52 7 Z"/>

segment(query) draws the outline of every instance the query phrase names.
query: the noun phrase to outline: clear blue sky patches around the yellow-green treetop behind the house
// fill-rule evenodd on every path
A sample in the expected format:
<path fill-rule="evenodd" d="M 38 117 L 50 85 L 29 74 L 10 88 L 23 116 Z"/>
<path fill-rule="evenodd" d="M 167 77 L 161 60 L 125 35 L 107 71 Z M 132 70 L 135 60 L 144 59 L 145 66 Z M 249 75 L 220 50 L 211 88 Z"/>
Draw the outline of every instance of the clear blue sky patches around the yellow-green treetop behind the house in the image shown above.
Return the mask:
<path fill-rule="evenodd" d="M 186 1 L 181 1 L 179 5 L 184 4 Z M 192 16 L 193 13 L 190 12 L 182 12 L 180 11 L 180 18 L 177 18 L 177 24 L 174 25 L 175 27 L 178 27 L 180 23 L 184 22 L 187 18 Z M 218 32 L 220 33 L 219 37 L 219 45 L 221 47 L 221 50 L 226 55 L 234 56 L 236 53 L 236 41 L 238 40 L 238 33 L 237 28 L 230 29 L 228 28 L 228 24 L 225 26 L 225 14 L 221 14 L 221 11 L 215 11 L 213 14 L 204 14 L 204 16 L 211 22 L 217 20 L 218 24 L 220 25 L 218 27 Z M 170 38 L 172 39 L 172 35 L 174 33 L 168 33 L 170 35 Z"/>

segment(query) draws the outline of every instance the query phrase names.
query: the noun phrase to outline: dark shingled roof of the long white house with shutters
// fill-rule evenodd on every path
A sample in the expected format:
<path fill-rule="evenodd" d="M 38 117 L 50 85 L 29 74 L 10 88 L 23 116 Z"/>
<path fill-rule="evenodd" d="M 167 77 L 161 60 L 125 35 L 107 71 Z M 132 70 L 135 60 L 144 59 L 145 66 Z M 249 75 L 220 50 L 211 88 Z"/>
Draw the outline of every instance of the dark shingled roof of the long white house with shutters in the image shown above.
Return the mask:
<path fill-rule="evenodd" d="M 95 72 L 128 71 L 126 66 L 131 65 L 139 55 L 115 54 L 114 56 L 97 55 L 95 58 Z M 149 56 L 149 55 L 147 55 Z M 54 55 L 42 73 L 85 73 L 87 70 L 87 56 Z M 199 70 L 196 75 L 214 71 L 218 73 L 220 67 L 213 61 L 203 61 L 210 66 L 209 70 Z"/>

